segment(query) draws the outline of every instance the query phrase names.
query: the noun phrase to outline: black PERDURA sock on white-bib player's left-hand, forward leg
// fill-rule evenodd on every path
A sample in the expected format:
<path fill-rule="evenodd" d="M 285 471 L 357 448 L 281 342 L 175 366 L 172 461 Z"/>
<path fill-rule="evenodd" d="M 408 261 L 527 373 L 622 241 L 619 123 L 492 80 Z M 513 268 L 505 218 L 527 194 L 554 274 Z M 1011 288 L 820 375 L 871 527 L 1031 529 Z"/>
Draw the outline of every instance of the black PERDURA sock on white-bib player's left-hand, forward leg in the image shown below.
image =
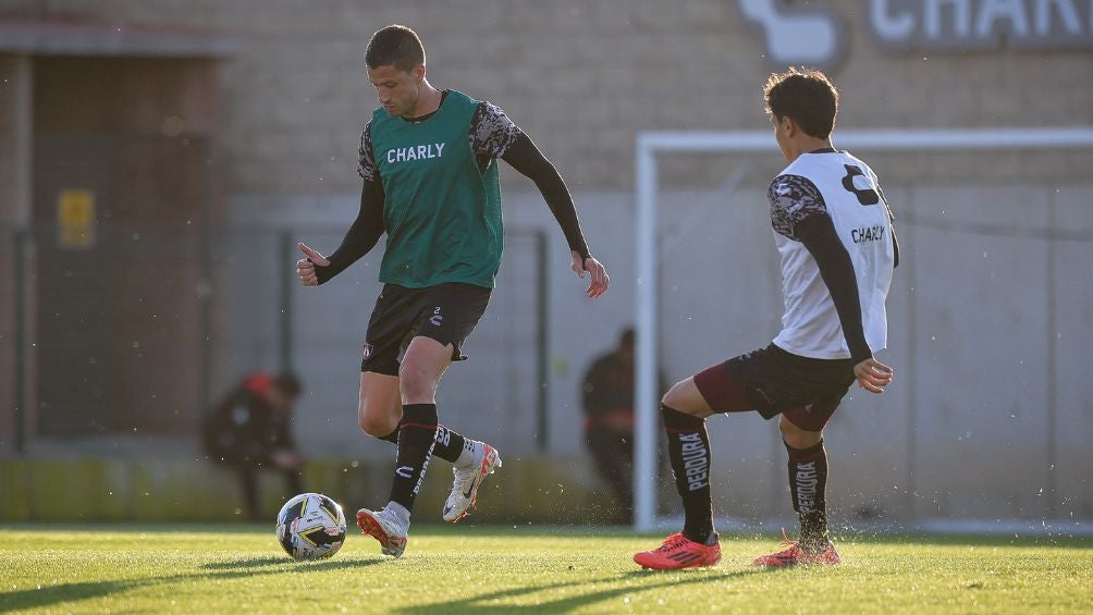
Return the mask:
<path fill-rule="evenodd" d="M 660 405 L 668 434 L 668 457 L 675 492 L 683 500 L 683 535 L 705 544 L 714 533 L 714 501 L 709 493 L 709 435 L 706 419 Z"/>

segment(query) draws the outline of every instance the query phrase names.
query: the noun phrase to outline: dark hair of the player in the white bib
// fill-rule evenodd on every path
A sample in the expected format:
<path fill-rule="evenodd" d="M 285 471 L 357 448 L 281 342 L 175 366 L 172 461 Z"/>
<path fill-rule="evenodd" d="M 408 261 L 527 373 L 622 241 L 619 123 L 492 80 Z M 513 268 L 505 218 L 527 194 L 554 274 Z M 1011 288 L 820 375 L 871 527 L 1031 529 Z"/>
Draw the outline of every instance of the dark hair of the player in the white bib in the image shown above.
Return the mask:
<path fill-rule="evenodd" d="M 835 128 L 838 90 L 822 71 L 790 68 L 771 73 L 763 87 L 766 113 L 790 117 L 810 137 L 826 139 Z"/>

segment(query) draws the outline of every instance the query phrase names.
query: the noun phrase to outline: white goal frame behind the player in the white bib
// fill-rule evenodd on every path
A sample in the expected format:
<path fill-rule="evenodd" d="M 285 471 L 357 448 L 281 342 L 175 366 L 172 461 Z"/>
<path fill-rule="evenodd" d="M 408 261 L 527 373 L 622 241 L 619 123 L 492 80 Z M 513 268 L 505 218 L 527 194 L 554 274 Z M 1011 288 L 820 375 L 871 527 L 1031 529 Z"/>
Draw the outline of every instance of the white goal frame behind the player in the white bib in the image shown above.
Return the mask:
<path fill-rule="evenodd" d="M 891 129 L 839 130 L 835 145 L 855 152 L 907 151 L 1012 151 L 1093 149 L 1093 128 L 983 128 L 983 129 Z M 657 154 L 748 153 L 777 154 L 772 130 L 645 131 L 637 134 L 635 149 L 635 192 L 637 220 L 635 250 L 637 288 L 634 314 L 637 331 L 637 363 L 634 378 L 634 530 L 657 528 Z M 772 331 L 773 335 L 775 331 Z"/>

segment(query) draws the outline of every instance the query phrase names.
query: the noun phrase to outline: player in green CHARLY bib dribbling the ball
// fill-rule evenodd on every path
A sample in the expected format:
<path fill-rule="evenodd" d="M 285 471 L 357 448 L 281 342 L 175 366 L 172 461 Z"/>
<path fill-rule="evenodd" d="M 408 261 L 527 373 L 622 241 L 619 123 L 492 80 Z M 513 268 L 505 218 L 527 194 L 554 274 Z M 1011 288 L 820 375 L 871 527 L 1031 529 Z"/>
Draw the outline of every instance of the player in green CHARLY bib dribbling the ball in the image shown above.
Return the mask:
<path fill-rule="evenodd" d="M 453 463 L 444 519 L 474 506 L 482 481 L 501 466 L 496 449 L 437 419 L 436 388 L 490 303 L 504 229 L 497 158 L 530 178 L 562 227 L 572 269 L 588 275 L 589 297 L 608 289 L 588 251 L 573 199 L 554 165 L 494 105 L 425 79 L 425 49 L 409 27 L 376 32 L 365 50 L 380 108 L 361 134 L 361 210 L 329 257 L 304 244 L 296 263 L 316 286 L 356 262 L 387 233 L 384 283 L 365 332 L 357 421 L 398 447 L 390 500 L 361 509 L 356 524 L 385 555 L 402 555 L 414 496 L 433 454 Z"/>

